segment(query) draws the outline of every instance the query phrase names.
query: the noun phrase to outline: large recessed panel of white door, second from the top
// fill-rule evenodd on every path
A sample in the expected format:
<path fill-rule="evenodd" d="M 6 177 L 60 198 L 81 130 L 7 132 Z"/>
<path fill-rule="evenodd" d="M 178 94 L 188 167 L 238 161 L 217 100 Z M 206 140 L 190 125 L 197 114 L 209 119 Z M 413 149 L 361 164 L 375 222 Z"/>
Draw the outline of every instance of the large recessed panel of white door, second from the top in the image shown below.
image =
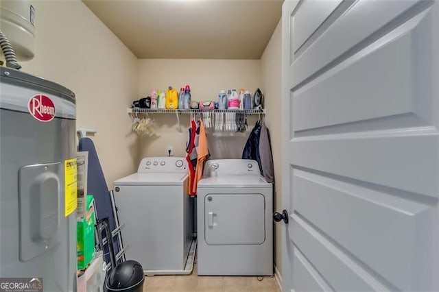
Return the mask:
<path fill-rule="evenodd" d="M 425 62 L 425 56 L 431 56 L 431 46 L 420 45 L 430 39 L 431 11 L 418 15 L 401 25 L 397 32 L 383 36 L 294 91 L 296 134 L 301 130 L 399 114 L 414 116 L 414 126 L 431 125 L 433 69 L 431 62 Z M 424 76 L 422 86 L 413 78 L 416 75 Z"/>

